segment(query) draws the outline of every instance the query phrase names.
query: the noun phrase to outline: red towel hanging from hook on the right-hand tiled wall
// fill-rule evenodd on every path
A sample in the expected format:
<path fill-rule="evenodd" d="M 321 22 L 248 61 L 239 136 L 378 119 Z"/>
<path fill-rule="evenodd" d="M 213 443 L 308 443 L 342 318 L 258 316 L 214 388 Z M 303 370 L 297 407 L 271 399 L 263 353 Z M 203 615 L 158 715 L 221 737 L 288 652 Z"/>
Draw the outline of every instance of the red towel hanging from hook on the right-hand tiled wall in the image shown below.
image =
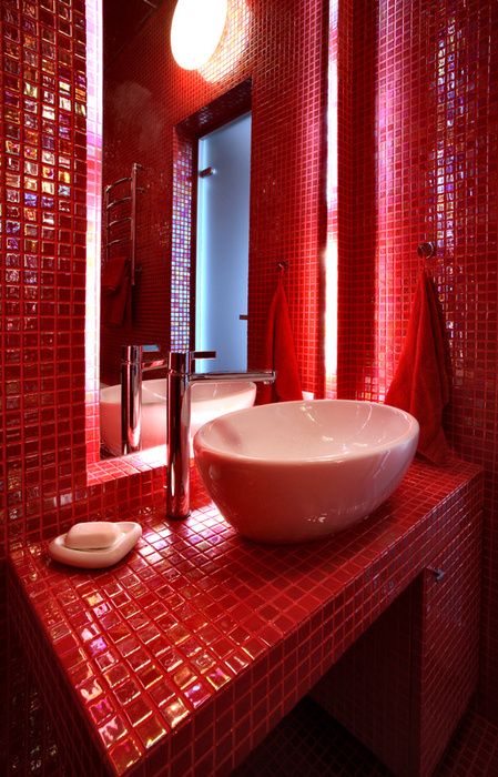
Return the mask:
<path fill-rule="evenodd" d="M 448 401 L 444 326 L 433 282 L 423 270 L 386 404 L 405 410 L 417 418 L 420 424 L 418 453 L 433 464 L 448 464 L 450 460 L 443 431 L 443 410 Z"/>

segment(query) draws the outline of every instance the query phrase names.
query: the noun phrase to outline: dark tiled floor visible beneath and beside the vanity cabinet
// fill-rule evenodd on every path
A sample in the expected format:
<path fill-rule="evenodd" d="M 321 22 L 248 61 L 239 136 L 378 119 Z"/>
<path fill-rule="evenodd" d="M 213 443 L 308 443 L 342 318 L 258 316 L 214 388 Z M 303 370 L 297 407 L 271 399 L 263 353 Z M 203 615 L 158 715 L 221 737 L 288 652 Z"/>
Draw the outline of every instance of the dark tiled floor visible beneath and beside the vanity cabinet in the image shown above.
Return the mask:
<path fill-rule="evenodd" d="M 390 777 L 375 756 L 304 698 L 234 777 Z M 460 724 L 434 777 L 497 777 L 498 728 L 475 713 Z"/>

